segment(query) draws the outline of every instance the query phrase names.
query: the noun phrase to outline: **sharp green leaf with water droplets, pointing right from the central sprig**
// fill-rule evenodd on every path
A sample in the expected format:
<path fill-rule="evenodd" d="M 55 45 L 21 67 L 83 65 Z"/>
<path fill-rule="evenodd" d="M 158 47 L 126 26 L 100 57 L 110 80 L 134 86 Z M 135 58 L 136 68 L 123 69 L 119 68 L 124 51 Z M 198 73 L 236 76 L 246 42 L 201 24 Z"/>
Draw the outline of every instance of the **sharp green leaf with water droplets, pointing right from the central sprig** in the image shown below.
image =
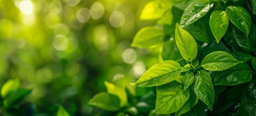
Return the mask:
<path fill-rule="evenodd" d="M 207 71 L 223 71 L 242 63 L 225 51 L 214 51 L 204 57 L 201 63 Z"/>

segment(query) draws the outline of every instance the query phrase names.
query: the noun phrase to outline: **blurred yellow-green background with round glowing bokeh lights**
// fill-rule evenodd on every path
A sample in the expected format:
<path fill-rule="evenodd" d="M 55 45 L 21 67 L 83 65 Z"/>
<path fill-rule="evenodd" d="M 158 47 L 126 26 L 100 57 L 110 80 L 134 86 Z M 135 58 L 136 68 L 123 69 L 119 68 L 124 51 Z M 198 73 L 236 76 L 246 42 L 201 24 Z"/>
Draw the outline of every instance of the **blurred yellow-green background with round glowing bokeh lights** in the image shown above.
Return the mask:
<path fill-rule="evenodd" d="M 160 48 L 130 47 L 149 0 L 0 0 L 0 85 L 19 78 L 37 116 L 95 115 L 104 81 L 127 86 L 159 62 Z M 2 114 L 4 110 L 0 110 Z"/>

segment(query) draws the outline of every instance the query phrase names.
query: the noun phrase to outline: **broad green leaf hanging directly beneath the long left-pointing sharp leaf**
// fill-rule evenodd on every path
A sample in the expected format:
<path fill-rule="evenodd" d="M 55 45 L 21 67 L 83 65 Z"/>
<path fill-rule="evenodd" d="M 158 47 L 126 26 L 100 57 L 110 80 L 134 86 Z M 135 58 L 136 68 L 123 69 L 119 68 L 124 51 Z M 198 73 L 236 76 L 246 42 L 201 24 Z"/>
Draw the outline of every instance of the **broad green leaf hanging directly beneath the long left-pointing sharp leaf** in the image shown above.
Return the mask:
<path fill-rule="evenodd" d="M 171 114 L 180 109 L 189 99 L 189 89 L 183 89 L 183 84 L 173 81 L 157 86 L 155 111 L 157 114 Z"/>

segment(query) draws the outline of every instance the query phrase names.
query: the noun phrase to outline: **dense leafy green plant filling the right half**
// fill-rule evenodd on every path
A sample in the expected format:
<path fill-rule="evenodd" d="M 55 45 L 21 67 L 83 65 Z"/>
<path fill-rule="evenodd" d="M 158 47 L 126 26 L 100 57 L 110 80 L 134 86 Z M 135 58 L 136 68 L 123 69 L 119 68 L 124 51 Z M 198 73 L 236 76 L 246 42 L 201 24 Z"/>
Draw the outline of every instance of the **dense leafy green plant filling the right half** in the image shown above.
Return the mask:
<path fill-rule="evenodd" d="M 157 114 L 256 116 L 255 14 L 255 0 L 148 2 L 140 19 L 160 25 L 132 47 L 161 46 L 163 61 L 131 85 L 157 86 Z"/>

